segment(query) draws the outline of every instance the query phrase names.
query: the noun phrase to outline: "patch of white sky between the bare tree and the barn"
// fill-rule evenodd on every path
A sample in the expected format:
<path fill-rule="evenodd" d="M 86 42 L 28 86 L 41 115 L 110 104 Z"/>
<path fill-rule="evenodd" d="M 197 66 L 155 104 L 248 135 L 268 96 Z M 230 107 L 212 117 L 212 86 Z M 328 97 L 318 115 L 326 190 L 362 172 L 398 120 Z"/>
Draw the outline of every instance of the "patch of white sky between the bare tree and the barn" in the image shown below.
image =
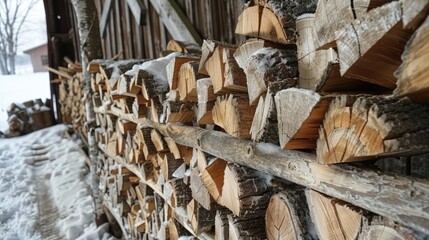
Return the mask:
<path fill-rule="evenodd" d="M 43 0 L 39 0 L 29 12 L 27 19 L 22 26 L 18 40 L 18 54 L 29 48 L 46 43 L 46 41 L 45 7 L 43 6 Z"/>

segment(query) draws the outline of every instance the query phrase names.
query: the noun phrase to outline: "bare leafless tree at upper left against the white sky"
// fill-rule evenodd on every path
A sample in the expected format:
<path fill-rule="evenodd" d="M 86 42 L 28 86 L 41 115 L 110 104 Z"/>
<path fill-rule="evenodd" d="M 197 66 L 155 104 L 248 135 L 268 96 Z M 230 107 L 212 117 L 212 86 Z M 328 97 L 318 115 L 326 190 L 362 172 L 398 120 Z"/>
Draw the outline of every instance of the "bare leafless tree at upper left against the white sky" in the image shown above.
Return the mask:
<path fill-rule="evenodd" d="M 39 0 L 0 0 L 0 73 L 15 74 L 18 38 L 28 13 Z"/>

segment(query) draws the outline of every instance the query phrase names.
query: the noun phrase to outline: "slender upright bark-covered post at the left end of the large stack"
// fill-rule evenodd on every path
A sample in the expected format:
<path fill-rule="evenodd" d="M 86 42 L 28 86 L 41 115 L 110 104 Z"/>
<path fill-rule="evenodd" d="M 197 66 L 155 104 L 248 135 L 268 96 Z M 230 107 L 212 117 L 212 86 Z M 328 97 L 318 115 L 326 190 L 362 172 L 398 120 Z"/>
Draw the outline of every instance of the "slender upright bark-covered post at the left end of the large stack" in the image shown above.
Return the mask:
<path fill-rule="evenodd" d="M 98 17 L 96 15 L 97 10 L 94 1 L 71 0 L 71 3 L 73 4 L 79 26 L 82 70 L 85 80 L 83 92 L 87 118 L 86 124 L 88 127 L 89 156 L 91 159 L 91 189 L 95 201 L 95 216 L 96 219 L 99 220 L 103 213 L 101 208 L 101 197 L 98 190 L 98 177 L 96 175 L 99 150 L 95 140 L 95 113 L 91 102 L 91 75 L 87 70 L 87 66 L 93 59 L 103 58 L 103 52 L 101 49 Z"/>

